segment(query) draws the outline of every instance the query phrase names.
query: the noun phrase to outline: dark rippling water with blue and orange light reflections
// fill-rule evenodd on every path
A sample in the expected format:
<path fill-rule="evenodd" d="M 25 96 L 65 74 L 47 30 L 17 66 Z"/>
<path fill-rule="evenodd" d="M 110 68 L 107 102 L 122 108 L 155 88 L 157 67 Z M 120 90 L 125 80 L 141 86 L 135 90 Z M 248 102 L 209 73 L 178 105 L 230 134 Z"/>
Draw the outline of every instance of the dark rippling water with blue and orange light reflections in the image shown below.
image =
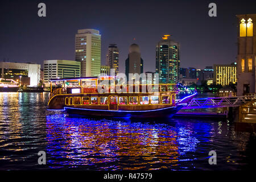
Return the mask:
<path fill-rule="evenodd" d="M 0 93 L 0 169 L 255 169 L 255 135 L 232 121 L 69 118 L 47 101 L 48 93 Z"/>

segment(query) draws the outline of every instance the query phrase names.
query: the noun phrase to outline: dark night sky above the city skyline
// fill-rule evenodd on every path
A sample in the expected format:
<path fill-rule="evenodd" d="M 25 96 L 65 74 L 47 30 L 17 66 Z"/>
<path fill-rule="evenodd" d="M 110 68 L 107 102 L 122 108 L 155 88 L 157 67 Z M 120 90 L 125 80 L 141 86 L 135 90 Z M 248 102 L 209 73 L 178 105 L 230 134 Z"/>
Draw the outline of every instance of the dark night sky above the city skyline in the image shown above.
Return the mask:
<path fill-rule="evenodd" d="M 46 3 L 45 18 L 38 16 L 40 2 Z M 210 2 L 217 4 L 217 17 L 208 16 Z M 255 13 L 255 0 L 1 1 L 0 61 L 74 60 L 77 30 L 94 28 L 102 35 L 101 63 L 116 43 L 120 72 L 132 43 L 141 48 L 144 72 L 155 72 L 155 46 L 164 34 L 180 43 L 181 67 L 203 69 L 236 60 L 235 15 Z"/>

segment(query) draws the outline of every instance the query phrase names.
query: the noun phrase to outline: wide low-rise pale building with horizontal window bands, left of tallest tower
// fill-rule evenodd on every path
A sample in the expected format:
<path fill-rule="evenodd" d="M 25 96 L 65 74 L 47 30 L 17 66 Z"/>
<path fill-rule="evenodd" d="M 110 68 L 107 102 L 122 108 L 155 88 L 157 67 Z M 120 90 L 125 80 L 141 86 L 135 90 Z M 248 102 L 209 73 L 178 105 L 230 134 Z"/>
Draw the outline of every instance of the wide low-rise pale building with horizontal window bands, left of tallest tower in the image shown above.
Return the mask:
<path fill-rule="evenodd" d="M 81 62 L 71 60 L 45 60 L 44 84 L 49 86 L 51 78 L 80 77 Z"/>

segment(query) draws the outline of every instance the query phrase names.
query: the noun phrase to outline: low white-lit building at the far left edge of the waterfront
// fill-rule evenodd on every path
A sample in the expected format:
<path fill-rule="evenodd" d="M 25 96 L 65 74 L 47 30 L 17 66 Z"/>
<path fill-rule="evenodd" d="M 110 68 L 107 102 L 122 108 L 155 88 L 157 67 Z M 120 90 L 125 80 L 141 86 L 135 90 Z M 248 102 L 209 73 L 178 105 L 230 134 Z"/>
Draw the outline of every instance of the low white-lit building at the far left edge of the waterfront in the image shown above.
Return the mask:
<path fill-rule="evenodd" d="M 28 80 L 26 85 L 38 86 L 40 82 L 40 64 L 0 62 L 1 78 L 15 81 Z"/>

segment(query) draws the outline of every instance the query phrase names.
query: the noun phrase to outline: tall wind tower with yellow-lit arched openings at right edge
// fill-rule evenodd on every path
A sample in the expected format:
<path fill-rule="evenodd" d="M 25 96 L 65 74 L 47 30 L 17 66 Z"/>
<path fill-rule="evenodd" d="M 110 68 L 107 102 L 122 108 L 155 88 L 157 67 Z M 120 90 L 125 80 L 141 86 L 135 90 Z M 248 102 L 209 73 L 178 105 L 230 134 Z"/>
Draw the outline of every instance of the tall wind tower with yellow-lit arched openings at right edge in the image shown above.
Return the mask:
<path fill-rule="evenodd" d="M 256 14 L 237 15 L 237 96 L 256 92 Z"/>

